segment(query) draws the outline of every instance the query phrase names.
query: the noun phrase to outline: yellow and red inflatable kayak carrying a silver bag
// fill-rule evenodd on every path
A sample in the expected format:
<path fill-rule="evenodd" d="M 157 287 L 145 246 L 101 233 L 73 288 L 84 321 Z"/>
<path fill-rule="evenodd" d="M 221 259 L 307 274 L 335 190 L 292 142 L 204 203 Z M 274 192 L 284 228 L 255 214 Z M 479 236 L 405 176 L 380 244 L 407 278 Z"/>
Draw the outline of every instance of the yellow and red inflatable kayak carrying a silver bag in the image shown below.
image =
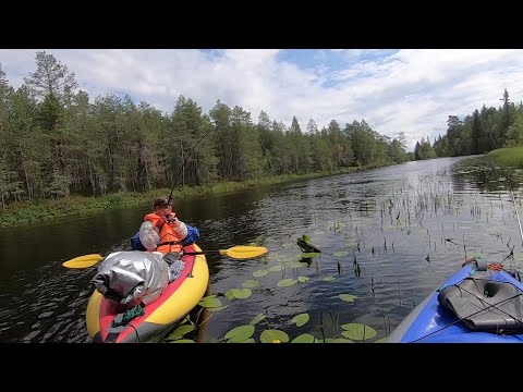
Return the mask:
<path fill-rule="evenodd" d="M 202 249 L 191 244 L 183 252 Z M 95 290 L 86 310 L 87 332 L 93 341 L 139 343 L 163 339 L 205 296 L 209 284 L 205 255 L 183 255 L 181 260 L 184 267 L 179 278 L 168 283 L 158 298 L 145 306 L 129 308 Z"/>

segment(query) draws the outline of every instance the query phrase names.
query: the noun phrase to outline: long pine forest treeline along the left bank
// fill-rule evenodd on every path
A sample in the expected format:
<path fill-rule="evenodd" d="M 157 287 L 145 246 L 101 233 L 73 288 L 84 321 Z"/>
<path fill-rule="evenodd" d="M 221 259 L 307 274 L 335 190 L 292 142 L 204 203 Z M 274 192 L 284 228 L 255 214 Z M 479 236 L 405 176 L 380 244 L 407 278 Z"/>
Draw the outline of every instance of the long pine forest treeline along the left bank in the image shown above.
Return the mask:
<path fill-rule="evenodd" d="M 170 114 L 130 97 L 89 102 L 74 72 L 45 51 L 14 89 L 0 64 L 0 203 L 146 192 L 280 174 L 381 166 L 412 159 L 362 120 L 318 130 L 287 126 L 262 111 L 257 123 L 220 100 L 208 113 L 180 96 Z"/>

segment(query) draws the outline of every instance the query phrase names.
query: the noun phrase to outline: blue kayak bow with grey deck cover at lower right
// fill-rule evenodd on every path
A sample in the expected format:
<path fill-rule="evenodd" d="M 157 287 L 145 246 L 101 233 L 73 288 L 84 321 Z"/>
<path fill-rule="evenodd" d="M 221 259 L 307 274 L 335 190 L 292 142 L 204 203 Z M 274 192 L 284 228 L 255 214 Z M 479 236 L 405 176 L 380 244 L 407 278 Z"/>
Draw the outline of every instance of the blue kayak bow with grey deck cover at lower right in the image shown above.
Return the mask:
<path fill-rule="evenodd" d="M 428 295 L 386 343 L 523 343 L 518 272 L 467 264 Z"/>

